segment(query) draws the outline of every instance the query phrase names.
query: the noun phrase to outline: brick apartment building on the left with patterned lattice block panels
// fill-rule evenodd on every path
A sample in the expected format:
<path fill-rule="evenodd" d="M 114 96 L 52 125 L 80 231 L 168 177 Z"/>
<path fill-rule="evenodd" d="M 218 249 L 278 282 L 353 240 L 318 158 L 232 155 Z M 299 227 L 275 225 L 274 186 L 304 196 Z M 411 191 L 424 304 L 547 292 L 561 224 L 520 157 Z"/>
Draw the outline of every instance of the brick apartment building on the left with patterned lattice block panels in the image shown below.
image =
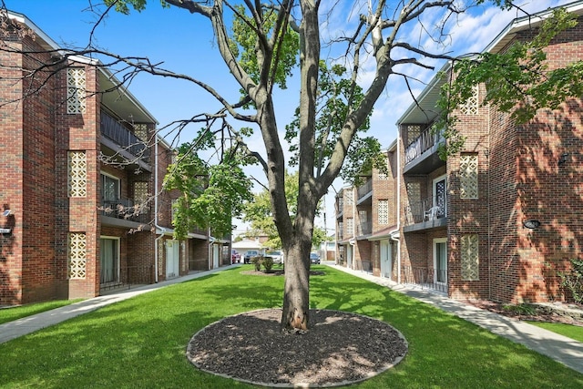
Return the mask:
<path fill-rule="evenodd" d="M 0 30 L 0 305 L 90 298 L 229 263 L 230 241 L 172 239 L 174 151 L 97 60 L 25 15 Z M 156 196 L 154 196 L 156 195 Z"/>

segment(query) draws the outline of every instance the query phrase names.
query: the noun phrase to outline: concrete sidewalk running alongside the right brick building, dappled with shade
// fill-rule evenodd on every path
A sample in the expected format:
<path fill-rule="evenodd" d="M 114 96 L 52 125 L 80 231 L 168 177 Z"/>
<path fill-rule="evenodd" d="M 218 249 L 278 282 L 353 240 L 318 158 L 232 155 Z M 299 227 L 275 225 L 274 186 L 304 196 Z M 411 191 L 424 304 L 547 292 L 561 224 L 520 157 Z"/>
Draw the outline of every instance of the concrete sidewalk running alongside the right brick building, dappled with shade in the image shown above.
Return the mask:
<path fill-rule="evenodd" d="M 481 310 L 463 302 L 448 299 L 443 294 L 424 291 L 411 285 L 397 284 L 364 271 L 353 271 L 334 264 L 329 266 L 434 305 L 445 312 L 450 312 L 468 322 L 473 322 L 491 333 L 504 336 L 512 342 L 527 346 L 530 350 L 547 355 L 549 358 L 583 374 L 583 343 L 579 343 L 567 336 L 559 335 L 536 325 L 521 322 L 495 312 Z"/>

